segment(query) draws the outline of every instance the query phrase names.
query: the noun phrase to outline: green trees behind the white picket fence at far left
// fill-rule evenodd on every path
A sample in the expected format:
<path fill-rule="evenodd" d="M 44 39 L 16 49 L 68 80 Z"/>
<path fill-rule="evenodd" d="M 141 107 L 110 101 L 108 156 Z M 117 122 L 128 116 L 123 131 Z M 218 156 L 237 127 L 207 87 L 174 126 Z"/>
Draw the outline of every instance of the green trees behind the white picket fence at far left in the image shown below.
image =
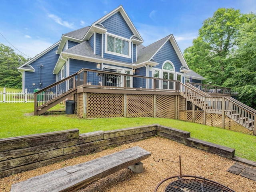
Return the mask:
<path fill-rule="evenodd" d="M 26 62 L 26 59 L 16 54 L 12 48 L 0 43 L 0 86 L 22 88 L 22 74 L 17 70 L 21 64 L 20 58 Z"/>

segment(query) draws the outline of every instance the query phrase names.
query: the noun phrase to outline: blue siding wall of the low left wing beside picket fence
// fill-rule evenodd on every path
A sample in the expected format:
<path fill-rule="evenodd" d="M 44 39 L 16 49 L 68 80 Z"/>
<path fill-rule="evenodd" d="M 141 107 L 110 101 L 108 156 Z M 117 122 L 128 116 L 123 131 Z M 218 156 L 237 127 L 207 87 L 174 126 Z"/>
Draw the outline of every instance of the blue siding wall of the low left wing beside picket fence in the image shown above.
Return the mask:
<path fill-rule="evenodd" d="M 24 88 L 28 89 L 29 92 L 33 92 L 33 90 L 37 88 L 42 89 L 56 82 L 56 74 L 53 74 L 52 72 L 59 58 L 59 55 L 55 54 L 57 48 L 58 46 L 30 64 L 30 66 L 35 69 L 35 72 L 24 72 Z M 41 69 L 40 64 L 44 66 Z M 42 87 L 39 86 L 39 82 L 42 82 Z M 35 86 L 32 85 L 33 83 Z"/>

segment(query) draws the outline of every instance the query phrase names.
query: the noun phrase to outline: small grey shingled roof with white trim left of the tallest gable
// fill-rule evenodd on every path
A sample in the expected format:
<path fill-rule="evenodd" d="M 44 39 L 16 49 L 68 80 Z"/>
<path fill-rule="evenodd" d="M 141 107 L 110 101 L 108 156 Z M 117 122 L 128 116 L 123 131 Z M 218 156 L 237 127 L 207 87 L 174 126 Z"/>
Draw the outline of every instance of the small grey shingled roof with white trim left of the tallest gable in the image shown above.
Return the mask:
<path fill-rule="evenodd" d="M 84 35 L 88 32 L 89 28 L 90 28 L 90 26 L 86 26 L 86 27 L 80 28 L 78 30 L 74 30 L 74 31 L 63 34 L 61 36 L 60 44 L 59 44 L 59 47 L 58 47 L 56 53 L 60 54 L 60 52 L 62 51 L 67 40 L 72 40 L 72 41 L 78 42 L 78 43 L 82 42 L 82 39 L 83 39 Z"/>

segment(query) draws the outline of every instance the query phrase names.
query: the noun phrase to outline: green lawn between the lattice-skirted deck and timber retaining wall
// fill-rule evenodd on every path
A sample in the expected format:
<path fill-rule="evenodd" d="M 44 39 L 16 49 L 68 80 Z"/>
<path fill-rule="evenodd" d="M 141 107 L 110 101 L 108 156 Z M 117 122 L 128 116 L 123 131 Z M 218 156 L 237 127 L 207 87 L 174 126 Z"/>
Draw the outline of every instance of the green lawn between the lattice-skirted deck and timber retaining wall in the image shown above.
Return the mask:
<path fill-rule="evenodd" d="M 63 108 L 58 105 L 55 109 Z M 164 118 L 80 119 L 76 115 L 51 114 L 27 116 L 34 112 L 33 103 L 0 103 L 0 138 L 78 128 L 80 133 L 160 124 L 191 132 L 191 137 L 236 149 L 236 156 L 256 161 L 256 136 L 222 128 Z"/>

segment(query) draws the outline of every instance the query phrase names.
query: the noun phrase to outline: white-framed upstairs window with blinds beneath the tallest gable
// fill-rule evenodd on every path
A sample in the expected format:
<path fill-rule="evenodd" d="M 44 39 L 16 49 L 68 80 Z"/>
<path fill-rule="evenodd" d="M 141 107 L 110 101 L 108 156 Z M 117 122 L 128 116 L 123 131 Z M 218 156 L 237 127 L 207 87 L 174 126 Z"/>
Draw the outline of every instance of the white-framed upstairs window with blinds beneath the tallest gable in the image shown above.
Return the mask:
<path fill-rule="evenodd" d="M 105 52 L 131 58 L 131 43 L 130 40 L 106 34 Z"/>

